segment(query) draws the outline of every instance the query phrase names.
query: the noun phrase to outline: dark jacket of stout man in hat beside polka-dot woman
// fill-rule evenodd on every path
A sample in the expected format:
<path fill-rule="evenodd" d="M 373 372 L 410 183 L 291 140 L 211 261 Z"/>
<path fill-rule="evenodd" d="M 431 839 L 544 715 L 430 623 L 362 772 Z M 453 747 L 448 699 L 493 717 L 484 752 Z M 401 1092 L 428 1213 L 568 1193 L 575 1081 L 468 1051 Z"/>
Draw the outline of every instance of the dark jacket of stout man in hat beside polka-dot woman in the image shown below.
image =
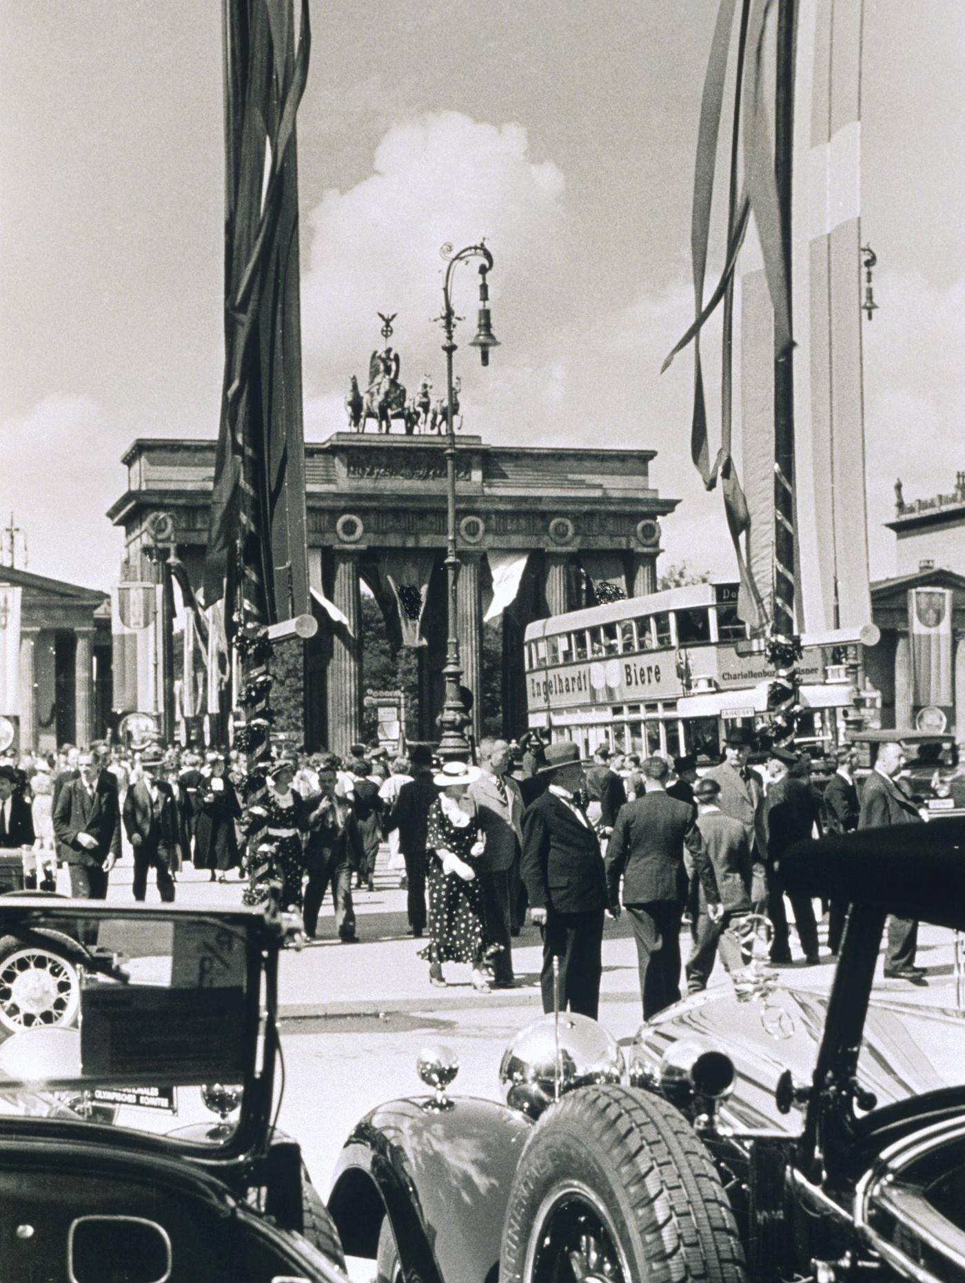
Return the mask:
<path fill-rule="evenodd" d="M 589 913 L 607 905 L 597 834 L 549 789 L 522 817 L 520 871 L 534 908 Z"/>

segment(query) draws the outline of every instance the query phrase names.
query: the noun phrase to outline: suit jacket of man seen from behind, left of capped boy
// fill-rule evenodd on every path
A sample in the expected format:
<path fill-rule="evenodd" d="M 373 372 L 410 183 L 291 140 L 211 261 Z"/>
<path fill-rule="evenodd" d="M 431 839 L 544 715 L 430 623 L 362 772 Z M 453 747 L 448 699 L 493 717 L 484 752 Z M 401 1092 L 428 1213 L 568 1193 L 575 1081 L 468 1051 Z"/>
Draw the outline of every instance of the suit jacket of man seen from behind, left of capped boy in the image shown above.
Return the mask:
<path fill-rule="evenodd" d="M 628 803 L 617 816 L 607 847 L 610 903 L 617 903 L 622 874 L 625 905 L 670 901 L 683 907 L 690 880 L 684 849 L 690 853 L 707 902 L 716 905 L 720 893 L 694 807 L 667 797 L 663 789 Z"/>

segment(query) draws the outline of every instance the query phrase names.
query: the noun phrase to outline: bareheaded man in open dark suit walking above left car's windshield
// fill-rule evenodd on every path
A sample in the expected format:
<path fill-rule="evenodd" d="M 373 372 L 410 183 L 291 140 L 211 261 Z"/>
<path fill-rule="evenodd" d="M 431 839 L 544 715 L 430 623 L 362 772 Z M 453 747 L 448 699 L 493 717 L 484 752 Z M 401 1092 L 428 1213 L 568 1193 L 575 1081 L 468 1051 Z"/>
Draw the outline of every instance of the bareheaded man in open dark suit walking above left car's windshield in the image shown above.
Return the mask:
<path fill-rule="evenodd" d="M 71 874 L 71 894 L 107 899 L 108 876 L 121 858 L 117 781 L 104 770 L 103 749 L 81 753 L 77 765 L 80 777 L 65 781 L 56 799 L 54 834 Z"/>

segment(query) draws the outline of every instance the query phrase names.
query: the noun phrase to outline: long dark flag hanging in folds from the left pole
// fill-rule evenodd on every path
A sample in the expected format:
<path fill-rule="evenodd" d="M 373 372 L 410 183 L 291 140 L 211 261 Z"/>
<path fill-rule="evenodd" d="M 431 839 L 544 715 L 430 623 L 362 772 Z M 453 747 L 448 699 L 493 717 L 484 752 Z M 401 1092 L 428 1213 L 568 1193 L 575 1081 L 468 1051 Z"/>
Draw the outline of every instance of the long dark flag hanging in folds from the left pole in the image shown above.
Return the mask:
<path fill-rule="evenodd" d="M 308 0 L 296 51 L 293 26 L 291 0 L 225 0 L 225 377 L 205 603 L 244 597 L 267 622 L 308 611 L 295 154 Z"/>

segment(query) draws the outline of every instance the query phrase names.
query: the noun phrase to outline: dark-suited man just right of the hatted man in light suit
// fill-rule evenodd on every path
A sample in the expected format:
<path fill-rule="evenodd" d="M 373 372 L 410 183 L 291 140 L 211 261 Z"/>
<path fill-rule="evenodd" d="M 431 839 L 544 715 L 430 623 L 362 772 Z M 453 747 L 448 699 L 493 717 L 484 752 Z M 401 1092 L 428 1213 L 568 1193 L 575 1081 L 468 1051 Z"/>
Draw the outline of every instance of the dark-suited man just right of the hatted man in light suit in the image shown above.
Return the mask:
<path fill-rule="evenodd" d="M 805 767 L 797 753 L 774 745 L 767 751 L 767 797 L 765 825 L 767 833 L 767 917 L 774 928 L 771 962 L 790 962 L 790 935 L 788 913 L 784 907 L 784 879 L 780 857 L 794 843 L 814 837 L 815 825 L 820 837 L 817 797 L 805 776 Z M 790 896 L 801 948 L 805 961 L 819 961 L 817 922 L 810 896 Z"/>

